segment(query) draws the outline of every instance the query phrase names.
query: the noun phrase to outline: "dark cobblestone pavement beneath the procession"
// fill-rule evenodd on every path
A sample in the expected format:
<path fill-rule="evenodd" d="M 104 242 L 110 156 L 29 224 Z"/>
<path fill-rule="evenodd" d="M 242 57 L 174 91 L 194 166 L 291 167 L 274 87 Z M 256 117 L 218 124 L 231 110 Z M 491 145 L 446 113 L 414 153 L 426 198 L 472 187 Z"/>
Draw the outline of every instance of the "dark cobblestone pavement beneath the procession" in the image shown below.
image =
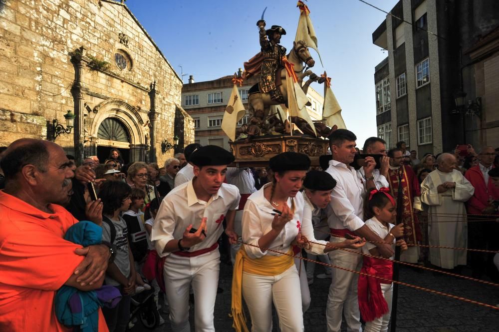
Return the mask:
<path fill-rule="evenodd" d="M 323 273 L 316 266 L 315 273 Z M 466 272 L 465 272 L 466 274 Z M 231 311 L 232 267 L 222 263 L 220 287 L 224 290 L 217 296 L 215 305 L 215 329 L 218 332 L 232 332 Z M 456 277 L 436 274 L 430 271 L 417 273 L 401 267 L 400 280 L 448 294 L 461 296 L 486 304 L 499 303 L 499 288 Z M 325 332 L 325 306 L 330 279 L 317 279 L 310 286 L 312 303 L 304 315 L 306 332 Z M 405 286 L 399 287 L 397 332 L 498 332 L 499 310 L 488 309 L 474 304 L 450 299 L 440 295 L 419 291 Z M 168 314 L 161 313 L 166 324 L 156 332 L 171 331 Z M 191 307 L 191 331 L 194 332 L 194 311 Z M 150 331 L 136 323 L 133 332 Z M 277 332 L 275 327 L 273 332 Z M 346 327 L 343 326 L 343 330 Z M 390 331 L 390 330 L 389 330 Z"/>

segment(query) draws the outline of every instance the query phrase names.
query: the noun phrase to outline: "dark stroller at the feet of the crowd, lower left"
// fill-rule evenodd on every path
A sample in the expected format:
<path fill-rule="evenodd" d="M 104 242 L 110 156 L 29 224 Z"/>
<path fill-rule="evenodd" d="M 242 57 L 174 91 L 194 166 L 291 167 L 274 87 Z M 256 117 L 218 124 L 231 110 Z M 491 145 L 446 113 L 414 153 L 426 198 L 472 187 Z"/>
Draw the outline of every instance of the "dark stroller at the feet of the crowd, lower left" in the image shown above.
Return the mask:
<path fill-rule="evenodd" d="M 142 325 L 154 330 L 159 325 L 160 316 L 154 302 L 154 289 L 143 291 L 132 297 L 130 302 L 130 321 L 137 317 Z"/>

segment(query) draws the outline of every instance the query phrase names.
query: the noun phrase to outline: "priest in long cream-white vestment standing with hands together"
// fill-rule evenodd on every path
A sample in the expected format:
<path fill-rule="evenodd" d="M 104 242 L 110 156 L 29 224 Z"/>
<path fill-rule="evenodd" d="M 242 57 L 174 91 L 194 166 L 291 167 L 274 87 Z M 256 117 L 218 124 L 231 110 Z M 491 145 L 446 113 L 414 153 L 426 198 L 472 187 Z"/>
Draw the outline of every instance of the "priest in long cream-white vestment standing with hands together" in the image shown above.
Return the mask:
<path fill-rule="evenodd" d="M 430 245 L 467 248 L 468 223 L 464 202 L 475 188 L 456 170 L 456 157 L 443 153 L 437 158 L 438 169 L 421 184 L 421 201 L 429 206 Z M 466 265 L 465 250 L 430 248 L 430 262 L 444 269 Z"/>

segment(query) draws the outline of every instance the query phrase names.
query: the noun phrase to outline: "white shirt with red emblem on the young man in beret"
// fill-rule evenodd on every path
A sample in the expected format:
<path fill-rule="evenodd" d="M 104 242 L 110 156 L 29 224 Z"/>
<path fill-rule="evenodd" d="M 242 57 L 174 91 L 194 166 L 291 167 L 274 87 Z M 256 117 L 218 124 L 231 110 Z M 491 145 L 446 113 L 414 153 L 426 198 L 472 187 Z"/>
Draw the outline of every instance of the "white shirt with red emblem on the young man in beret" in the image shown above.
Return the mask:
<path fill-rule="evenodd" d="M 201 220 L 206 217 L 207 237 L 189 251 L 210 248 L 224 231 L 222 222 L 228 210 L 236 210 L 241 195 L 236 186 L 222 183 L 216 195 L 208 202 L 198 199 L 192 180 L 175 187 L 163 199 L 154 220 L 151 232 L 151 241 L 155 241 L 156 251 L 160 257 L 168 256 L 164 253 L 166 244 L 170 240 L 182 239 L 186 228 L 192 224 L 199 229 Z"/>

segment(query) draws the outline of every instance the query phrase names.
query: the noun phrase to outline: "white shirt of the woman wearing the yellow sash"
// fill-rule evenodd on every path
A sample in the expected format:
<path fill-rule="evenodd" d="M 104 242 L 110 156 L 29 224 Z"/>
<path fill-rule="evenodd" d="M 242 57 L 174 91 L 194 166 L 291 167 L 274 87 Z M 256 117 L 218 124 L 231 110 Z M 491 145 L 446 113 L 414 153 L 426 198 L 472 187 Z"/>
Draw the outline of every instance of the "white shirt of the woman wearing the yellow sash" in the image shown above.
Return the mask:
<path fill-rule="evenodd" d="M 250 245 L 258 246 L 258 240 L 272 229 L 272 220 L 275 212 L 272 209 L 281 207 L 272 206 L 263 196 L 264 188 L 271 186 L 272 183 L 266 183 L 260 190 L 252 193 L 246 202 L 243 211 L 243 242 Z M 291 242 L 298 235 L 297 222 L 303 223 L 303 207 L 304 200 L 300 192 L 294 198 L 287 199 L 287 206 L 291 208 L 291 200 L 294 201 L 293 219 L 286 223 L 279 235 L 272 241 L 269 249 L 276 250 L 282 253 L 287 253 Z M 313 233 L 313 232 L 312 232 Z M 310 238 L 309 238 L 310 239 Z M 261 251 L 260 248 L 245 245 L 246 253 L 250 258 L 260 258 L 264 255 L 281 256 L 282 254 L 273 251 Z"/>

